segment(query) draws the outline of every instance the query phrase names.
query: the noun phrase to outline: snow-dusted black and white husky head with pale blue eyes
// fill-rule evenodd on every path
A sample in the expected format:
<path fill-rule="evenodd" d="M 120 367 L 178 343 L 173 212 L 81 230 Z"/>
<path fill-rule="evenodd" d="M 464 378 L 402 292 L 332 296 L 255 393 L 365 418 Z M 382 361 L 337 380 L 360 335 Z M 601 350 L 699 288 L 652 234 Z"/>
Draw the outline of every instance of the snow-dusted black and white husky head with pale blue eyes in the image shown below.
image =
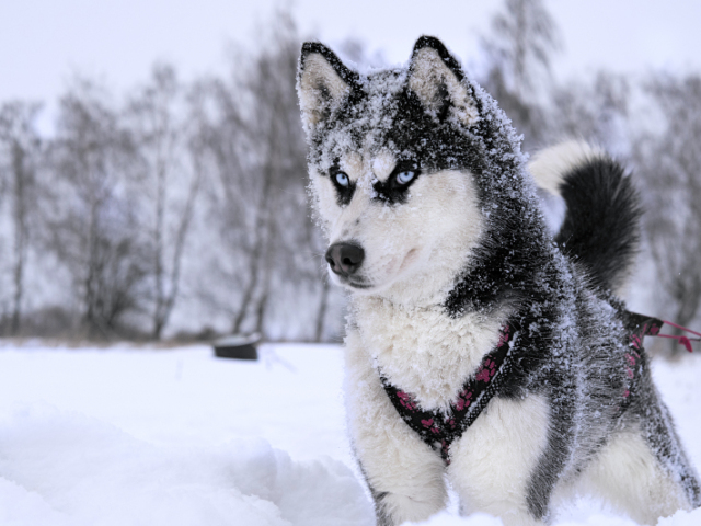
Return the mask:
<path fill-rule="evenodd" d="M 407 68 L 369 75 L 306 43 L 298 93 L 334 281 L 402 300 L 447 290 L 492 204 L 481 182 L 494 175 L 489 157 L 512 152 L 496 138 L 504 123 L 491 100 L 485 108 L 459 62 L 426 36 Z"/>

